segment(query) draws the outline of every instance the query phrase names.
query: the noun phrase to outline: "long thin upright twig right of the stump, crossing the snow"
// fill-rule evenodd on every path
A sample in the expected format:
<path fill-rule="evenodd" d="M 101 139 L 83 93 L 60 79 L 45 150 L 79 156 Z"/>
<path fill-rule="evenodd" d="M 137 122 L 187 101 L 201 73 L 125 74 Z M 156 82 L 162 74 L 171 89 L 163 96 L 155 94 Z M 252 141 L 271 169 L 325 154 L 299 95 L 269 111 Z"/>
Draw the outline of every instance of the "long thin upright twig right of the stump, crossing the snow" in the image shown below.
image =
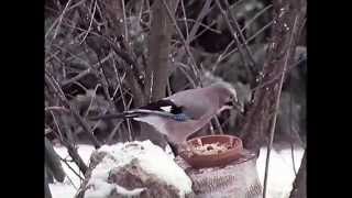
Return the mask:
<path fill-rule="evenodd" d="M 293 30 L 292 30 L 292 35 L 289 38 L 289 43 L 288 46 L 292 46 L 293 44 L 293 38 L 294 38 L 294 34 L 295 34 L 295 30 L 296 30 L 296 22 L 297 22 L 297 18 L 295 18 L 295 22 L 293 25 Z M 282 88 L 283 88 L 283 84 L 284 84 L 284 79 L 285 79 L 285 74 L 286 74 L 286 69 L 287 69 L 287 63 L 288 63 L 288 58 L 289 58 L 289 47 L 287 48 L 286 52 L 286 57 L 285 57 L 285 63 L 284 63 L 284 68 L 283 68 L 283 75 L 280 77 L 280 81 L 278 84 L 278 90 L 277 90 L 277 95 L 275 98 L 275 113 L 274 113 L 274 118 L 272 119 L 271 122 L 271 133 L 270 133 L 270 143 L 267 145 L 267 150 L 266 150 L 266 162 L 265 162 L 265 174 L 264 174 L 264 187 L 263 187 L 263 198 L 266 197 L 266 188 L 267 188 L 267 175 L 268 175 L 268 163 L 270 163 L 270 157 L 271 157 L 271 151 L 273 147 L 273 142 L 274 142 L 274 135 L 275 135 L 275 125 L 276 125 L 276 119 L 277 119 L 277 111 L 279 108 L 279 97 L 282 95 Z"/>

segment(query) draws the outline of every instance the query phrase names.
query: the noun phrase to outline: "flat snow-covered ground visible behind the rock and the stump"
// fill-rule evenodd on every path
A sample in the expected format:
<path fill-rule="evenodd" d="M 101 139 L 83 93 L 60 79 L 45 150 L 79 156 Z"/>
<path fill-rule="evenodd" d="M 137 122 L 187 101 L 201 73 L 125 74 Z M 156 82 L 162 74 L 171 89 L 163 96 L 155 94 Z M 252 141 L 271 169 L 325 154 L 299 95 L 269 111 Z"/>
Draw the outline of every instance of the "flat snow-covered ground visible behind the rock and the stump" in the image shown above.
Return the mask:
<path fill-rule="evenodd" d="M 55 146 L 54 148 L 63 158 L 69 158 L 65 147 Z M 90 145 L 81 144 L 78 146 L 78 153 L 86 163 L 88 163 L 92 151 L 94 146 Z M 295 167 L 297 170 L 299 168 L 302 154 L 302 148 L 296 148 L 294 152 Z M 263 147 L 257 160 L 257 170 L 262 184 L 264 180 L 265 158 L 266 148 Z M 78 167 L 74 163 L 69 162 L 68 164 L 78 173 Z M 76 188 L 80 186 L 79 177 L 76 176 L 75 173 L 64 163 L 63 167 L 67 174 L 67 177 L 65 178 L 64 183 L 55 183 L 50 185 L 53 198 L 73 198 L 77 191 Z M 285 148 L 279 152 L 272 150 L 267 180 L 267 197 L 287 198 L 294 179 L 295 172 L 293 168 L 292 151 L 289 148 Z"/>

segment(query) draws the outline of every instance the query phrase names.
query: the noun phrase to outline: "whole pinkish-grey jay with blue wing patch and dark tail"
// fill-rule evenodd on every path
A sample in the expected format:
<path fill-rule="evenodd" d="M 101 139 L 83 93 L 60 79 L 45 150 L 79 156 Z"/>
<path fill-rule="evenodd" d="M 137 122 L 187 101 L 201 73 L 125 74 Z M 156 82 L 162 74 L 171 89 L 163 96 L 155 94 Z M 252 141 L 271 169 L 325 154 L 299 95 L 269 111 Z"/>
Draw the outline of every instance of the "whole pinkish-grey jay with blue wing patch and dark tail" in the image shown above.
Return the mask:
<path fill-rule="evenodd" d="M 117 114 L 105 114 L 91 120 L 133 119 L 152 125 L 164 134 L 173 152 L 187 138 L 216 116 L 227 109 L 243 111 L 235 89 L 226 81 L 218 81 L 208 87 L 178 91 L 146 106 Z"/>

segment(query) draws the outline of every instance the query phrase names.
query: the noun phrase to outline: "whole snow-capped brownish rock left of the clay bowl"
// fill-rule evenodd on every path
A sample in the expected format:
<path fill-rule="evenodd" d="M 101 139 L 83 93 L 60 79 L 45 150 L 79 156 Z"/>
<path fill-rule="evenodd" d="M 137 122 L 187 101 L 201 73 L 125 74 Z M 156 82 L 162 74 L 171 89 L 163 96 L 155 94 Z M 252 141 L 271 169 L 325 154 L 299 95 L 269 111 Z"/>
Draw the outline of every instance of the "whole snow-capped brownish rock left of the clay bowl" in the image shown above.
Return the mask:
<path fill-rule="evenodd" d="M 90 157 L 76 198 L 193 197 L 191 180 L 151 141 L 102 146 Z"/>

